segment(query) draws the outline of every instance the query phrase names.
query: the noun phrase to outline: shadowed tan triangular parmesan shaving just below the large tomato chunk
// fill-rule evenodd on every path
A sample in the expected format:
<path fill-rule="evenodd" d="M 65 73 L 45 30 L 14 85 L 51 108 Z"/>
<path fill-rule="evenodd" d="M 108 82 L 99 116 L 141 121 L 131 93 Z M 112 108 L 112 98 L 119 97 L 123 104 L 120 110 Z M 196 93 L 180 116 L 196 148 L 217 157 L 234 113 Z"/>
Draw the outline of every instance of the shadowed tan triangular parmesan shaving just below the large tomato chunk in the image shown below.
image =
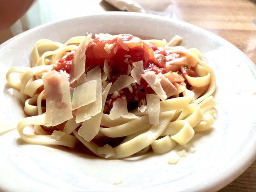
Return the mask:
<path fill-rule="evenodd" d="M 129 84 L 133 84 L 136 81 L 134 78 L 128 76 L 128 75 L 120 75 L 118 79 L 113 83 L 111 89 L 110 89 L 110 94 L 114 93 L 115 91 L 119 91 L 125 87 L 127 87 Z"/>

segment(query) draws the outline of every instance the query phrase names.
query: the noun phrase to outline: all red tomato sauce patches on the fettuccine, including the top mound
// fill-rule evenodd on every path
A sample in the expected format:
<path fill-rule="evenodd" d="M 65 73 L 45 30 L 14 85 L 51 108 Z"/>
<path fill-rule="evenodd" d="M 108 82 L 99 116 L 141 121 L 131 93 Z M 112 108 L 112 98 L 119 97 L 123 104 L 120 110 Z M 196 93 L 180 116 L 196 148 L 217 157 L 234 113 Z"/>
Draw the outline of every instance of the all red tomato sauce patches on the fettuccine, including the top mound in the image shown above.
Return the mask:
<path fill-rule="evenodd" d="M 114 47 L 110 49 L 110 53 L 105 50 L 106 44 L 114 44 Z M 179 54 L 172 53 L 173 58 L 180 57 Z M 166 73 L 166 58 L 165 56 L 172 54 L 166 52 L 164 49 L 158 49 L 153 44 L 146 44 L 140 38 L 129 35 L 122 34 L 116 36 L 113 39 L 106 39 L 104 37 L 94 38 L 88 45 L 85 55 L 85 72 L 99 66 L 103 70 L 104 60 L 108 61 L 111 68 L 111 79 L 110 82 L 115 82 L 115 80 L 121 74 L 127 74 L 128 66 L 132 67 L 132 63 L 135 61 L 143 61 L 144 71 L 153 71 L 156 74 L 159 72 Z M 66 71 L 70 74 L 72 70 L 72 61 L 74 53 L 69 54 L 65 59 L 61 59 L 54 69 L 58 72 Z M 170 57 L 170 58 L 171 58 Z M 194 71 L 186 71 L 189 75 L 195 76 Z M 141 79 L 141 84 L 135 84 L 132 86 L 133 92 L 128 88 L 122 90 L 121 96 L 112 99 L 112 103 L 119 97 L 126 96 L 127 102 L 138 103 L 139 100 L 146 99 L 146 94 L 154 93 L 153 89 L 148 86 L 144 79 Z M 108 97 L 110 99 L 110 96 Z M 129 105 L 129 104 L 128 104 Z"/>

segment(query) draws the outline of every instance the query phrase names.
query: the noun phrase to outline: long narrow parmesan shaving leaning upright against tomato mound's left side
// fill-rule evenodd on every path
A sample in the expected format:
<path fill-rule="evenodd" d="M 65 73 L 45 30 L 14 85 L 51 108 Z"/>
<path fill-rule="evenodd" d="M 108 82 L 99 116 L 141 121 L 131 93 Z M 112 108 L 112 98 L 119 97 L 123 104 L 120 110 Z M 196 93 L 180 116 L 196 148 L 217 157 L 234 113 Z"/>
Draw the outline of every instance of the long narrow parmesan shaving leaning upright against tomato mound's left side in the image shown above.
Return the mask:
<path fill-rule="evenodd" d="M 92 34 L 89 34 L 79 44 L 75 51 L 73 59 L 73 67 L 70 72 L 70 82 L 77 80 L 85 72 L 85 50 L 91 40 Z"/>

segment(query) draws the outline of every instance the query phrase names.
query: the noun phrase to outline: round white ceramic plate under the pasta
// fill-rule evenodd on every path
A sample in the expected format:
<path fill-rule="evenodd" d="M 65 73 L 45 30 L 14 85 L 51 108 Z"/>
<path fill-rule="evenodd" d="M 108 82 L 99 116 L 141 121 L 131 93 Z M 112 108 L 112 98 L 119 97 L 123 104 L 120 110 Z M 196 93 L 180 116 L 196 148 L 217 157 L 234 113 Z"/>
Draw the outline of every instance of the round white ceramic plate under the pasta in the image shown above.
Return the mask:
<path fill-rule="evenodd" d="M 3 192 L 217 191 L 238 177 L 256 157 L 256 72 L 240 50 L 194 25 L 154 15 L 106 12 L 31 29 L 0 47 L 0 122 L 24 117 L 17 92 L 5 83 L 12 66 L 29 66 L 36 41 L 65 42 L 89 33 L 131 33 L 198 48 L 217 78 L 218 115 L 214 129 L 196 134 L 196 148 L 176 165 L 168 154 L 105 160 L 62 147 L 23 142 L 16 131 L 0 136 L 0 190 Z M 114 185 L 117 180 L 121 184 Z"/>

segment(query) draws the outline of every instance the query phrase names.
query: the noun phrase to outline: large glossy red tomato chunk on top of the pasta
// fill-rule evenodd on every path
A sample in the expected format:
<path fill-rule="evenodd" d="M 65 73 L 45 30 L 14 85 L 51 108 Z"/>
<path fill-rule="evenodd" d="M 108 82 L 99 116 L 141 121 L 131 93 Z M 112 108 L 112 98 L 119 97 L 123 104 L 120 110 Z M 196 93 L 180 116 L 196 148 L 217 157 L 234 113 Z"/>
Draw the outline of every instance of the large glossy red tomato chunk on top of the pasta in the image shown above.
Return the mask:
<path fill-rule="evenodd" d="M 104 49 L 107 43 L 114 44 L 109 54 Z M 110 40 L 97 37 L 90 42 L 86 50 L 86 71 L 96 66 L 103 68 L 104 60 L 108 60 L 112 75 L 127 74 L 128 65 L 135 61 L 142 60 L 144 69 L 150 62 L 158 63 L 154 57 L 154 50 L 138 37 L 129 34 Z"/>

